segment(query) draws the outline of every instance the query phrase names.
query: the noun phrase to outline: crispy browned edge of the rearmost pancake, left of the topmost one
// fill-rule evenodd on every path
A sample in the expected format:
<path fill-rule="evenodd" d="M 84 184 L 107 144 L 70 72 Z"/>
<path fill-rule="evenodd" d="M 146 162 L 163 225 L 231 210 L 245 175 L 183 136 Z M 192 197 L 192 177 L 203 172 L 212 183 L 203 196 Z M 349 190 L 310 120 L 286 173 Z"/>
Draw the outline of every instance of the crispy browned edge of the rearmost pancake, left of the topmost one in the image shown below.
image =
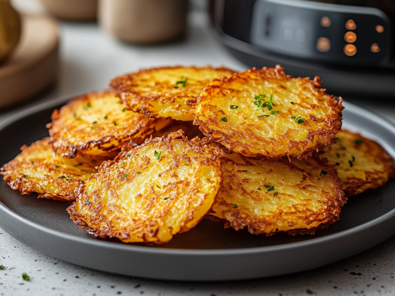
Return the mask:
<path fill-rule="evenodd" d="M 185 66 L 180 66 L 180 65 L 165 66 L 165 67 L 141 69 L 141 70 L 134 72 L 134 73 L 124 74 L 124 75 L 115 77 L 113 80 L 111 80 L 110 87 L 112 87 L 116 91 L 121 103 L 124 105 L 124 107 L 126 109 L 130 109 L 135 112 L 144 113 L 150 117 L 160 118 L 159 115 L 153 114 L 150 110 L 148 110 L 146 108 L 146 106 L 150 105 L 151 101 L 159 100 L 160 98 L 162 98 L 162 96 L 149 96 L 149 95 L 142 96 L 142 95 L 140 95 L 140 92 L 134 91 L 133 89 L 130 88 L 130 86 L 135 86 L 136 84 L 132 84 L 132 83 L 128 84 L 126 82 L 133 81 L 133 78 L 135 75 L 140 75 L 142 73 L 155 72 L 158 70 L 165 70 L 165 69 L 181 69 L 181 68 L 211 69 L 211 70 L 229 71 L 231 73 L 236 73 L 236 71 L 234 71 L 232 69 L 228 69 L 225 67 L 214 68 L 214 67 L 211 67 L 210 65 L 206 65 L 204 67 L 197 67 L 197 66 L 185 67 Z M 174 100 L 178 97 L 180 97 L 180 96 L 165 97 L 165 98 L 172 100 L 172 102 L 174 102 Z M 198 95 L 195 95 L 195 96 L 183 95 L 182 97 L 189 98 L 189 99 L 185 100 L 185 104 L 195 105 L 197 102 Z M 141 104 L 142 106 L 136 109 L 135 106 L 139 105 L 139 104 Z"/>

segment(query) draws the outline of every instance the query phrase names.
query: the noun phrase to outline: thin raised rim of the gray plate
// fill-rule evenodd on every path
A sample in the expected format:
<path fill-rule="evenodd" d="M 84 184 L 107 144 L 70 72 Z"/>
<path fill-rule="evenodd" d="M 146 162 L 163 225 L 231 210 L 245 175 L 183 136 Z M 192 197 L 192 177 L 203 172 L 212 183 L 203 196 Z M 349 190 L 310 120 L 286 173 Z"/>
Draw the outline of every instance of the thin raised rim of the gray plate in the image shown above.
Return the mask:
<path fill-rule="evenodd" d="M 73 97 L 72 97 L 73 98 Z M 39 105 L 30 107 L 26 110 L 20 111 L 9 118 L 5 119 L 2 123 L 0 123 L 0 131 L 8 127 L 9 125 L 13 124 L 17 120 L 20 120 L 24 117 L 32 115 L 36 112 L 43 111 L 45 109 L 53 108 L 57 105 L 67 103 L 72 98 L 68 97 L 61 97 L 50 102 L 43 102 Z M 360 116 L 369 115 L 369 120 L 374 121 L 375 123 L 389 129 L 395 135 L 395 125 L 386 118 L 383 118 L 379 114 L 374 111 L 369 111 L 363 107 L 360 107 L 356 104 L 343 102 L 345 108 L 349 110 L 353 110 L 357 112 Z M 391 154 L 391 153 L 390 153 Z M 394 157 L 394 155 L 392 155 Z M 18 213 L 13 211 L 12 209 L 8 208 L 0 201 L 0 211 L 5 213 L 6 215 L 11 216 L 14 219 L 28 225 L 29 227 L 33 227 L 36 230 L 46 232 L 47 234 L 54 235 L 59 238 L 72 240 L 77 243 L 82 243 L 86 245 L 91 245 L 99 248 L 110 248 L 115 250 L 122 250 L 126 252 L 140 252 L 145 254 L 163 254 L 163 255 L 179 255 L 179 256 L 219 256 L 219 255 L 253 255 L 253 254 L 261 254 L 261 253 L 271 253 L 277 251 L 285 251 L 285 250 L 292 250 L 298 248 L 304 248 L 316 244 L 322 244 L 325 242 L 330 242 L 333 240 L 341 239 L 343 237 L 347 237 L 349 235 L 356 234 L 361 231 L 365 231 L 369 228 L 373 228 L 378 224 L 387 221 L 395 216 L 395 208 L 389 211 L 388 213 L 377 217 L 369 222 L 365 222 L 354 226 L 352 228 L 342 230 L 336 233 L 328 234 L 322 237 L 311 238 L 300 242 L 291 242 L 291 243 L 284 243 L 280 245 L 273 245 L 273 246 L 263 246 L 263 247 L 250 247 L 250 248 L 234 248 L 234 249 L 160 249 L 160 248 L 152 248 L 149 246 L 136 246 L 131 244 L 121 244 L 121 243 L 114 243 L 108 241 L 100 241 L 100 240 L 92 240 L 88 238 L 74 236 L 72 234 L 64 233 L 59 230 L 54 230 L 49 227 L 43 226 L 40 223 L 36 223 L 33 221 L 28 220 L 27 218 L 20 216 Z M 12 235 L 11 235 L 12 236 Z"/>

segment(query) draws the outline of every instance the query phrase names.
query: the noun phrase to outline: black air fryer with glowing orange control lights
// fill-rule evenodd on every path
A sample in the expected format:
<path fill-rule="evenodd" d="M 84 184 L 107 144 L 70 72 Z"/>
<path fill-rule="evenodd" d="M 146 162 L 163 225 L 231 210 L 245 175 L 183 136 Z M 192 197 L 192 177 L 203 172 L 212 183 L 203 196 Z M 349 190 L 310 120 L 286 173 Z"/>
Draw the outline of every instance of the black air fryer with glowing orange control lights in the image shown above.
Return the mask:
<path fill-rule="evenodd" d="M 395 0 L 214 0 L 217 39 L 250 67 L 320 76 L 333 94 L 395 97 Z"/>

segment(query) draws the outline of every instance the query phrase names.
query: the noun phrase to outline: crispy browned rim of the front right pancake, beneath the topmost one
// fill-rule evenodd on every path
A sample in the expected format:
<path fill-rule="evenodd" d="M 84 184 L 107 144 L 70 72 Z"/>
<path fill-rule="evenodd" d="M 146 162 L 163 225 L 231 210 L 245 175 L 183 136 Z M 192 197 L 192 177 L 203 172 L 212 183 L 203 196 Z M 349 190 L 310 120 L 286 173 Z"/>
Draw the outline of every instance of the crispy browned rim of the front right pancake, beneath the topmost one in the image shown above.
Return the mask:
<path fill-rule="evenodd" d="M 223 150 L 223 151 L 225 151 L 225 150 Z M 262 158 L 265 159 L 265 157 L 262 157 Z M 330 224 L 333 224 L 334 222 L 336 222 L 336 221 L 338 221 L 340 219 L 339 214 L 340 214 L 341 207 L 343 207 L 346 204 L 346 202 L 347 202 L 347 197 L 345 196 L 345 194 L 344 194 L 344 192 L 342 190 L 342 185 L 343 185 L 342 184 L 342 180 L 337 175 L 337 171 L 336 171 L 335 165 L 328 164 L 328 161 L 327 161 L 326 158 L 319 159 L 318 157 L 316 157 L 316 155 L 315 155 L 314 159 L 316 160 L 316 162 L 319 165 L 322 165 L 322 166 L 325 167 L 325 170 L 327 171 L 327 175 L 326 176 L 330 176 L 330 178 L 333 180 L 333 182 L 334 182 L 334 190 L 339 192 L 339 194 L 334 199 L 328 200 L 326 202 L 328 213 L 330 215 L 330 220 L 328 222 L 319 224 L 317 227 L 313 227 L 313 228 L 310 228 L 310 229 L 308 229 L 308 228 L 298 228 L 298 229 L 292 229 L 292 230 L 286 231 L 290 235 L 315 234 L 318 229 L 323 229 L 323 228 L 328 227 Z M 281 158 L 280 161 L 283 161 L 284 163 L 290 162 L 289 159 L 287 159 L 285 157 Z M 214 201 L 214 203 L 215 203 L 215 201 Z M 218 218 L 218 217 L 215 217 L 215 216 L 211 215 L 210 212 L 208 212 L 204 216 L 204 218 L 205 219 L 209 219 L 209 220 L 211 220 L 213 222 L 222 223 L 222 224 L 224 224 L 225 228 L 233 228 L 233 229 L 235 229 L 237 231 L 247 227 L 248 232 L 251 233 L 251 234 L 265 234 L 266 236 L 272 236 L 272 235 L 274 235 L 274 234 L 276 234 L 278 232 L 284 232 L 284 231 L 276 230 L 276 231 L 271 232 L 271 233 L 261 233 L 261 232 L 257 231 L 256 227 L 251 226 L 251 225 L 247 225 L 246 223 L 243 223 L 242 221 L 238 221 L 238 220 L 236 220 L 236 221 L 227 221 L 225 219 L 221 219 L 221 218 Z M 325 218 L 323 218 L 322 220 L 325 220 L 325 219 L 327 219 L 327 216 Z M 313 221 L 317 221 L 317 219 L 312 220 L 312 222 Z M 259 221 L 255 221 L 255 222 L 259 223 Z M 264 223 L 264 224 L 266 224 L 266 223 Z"/>

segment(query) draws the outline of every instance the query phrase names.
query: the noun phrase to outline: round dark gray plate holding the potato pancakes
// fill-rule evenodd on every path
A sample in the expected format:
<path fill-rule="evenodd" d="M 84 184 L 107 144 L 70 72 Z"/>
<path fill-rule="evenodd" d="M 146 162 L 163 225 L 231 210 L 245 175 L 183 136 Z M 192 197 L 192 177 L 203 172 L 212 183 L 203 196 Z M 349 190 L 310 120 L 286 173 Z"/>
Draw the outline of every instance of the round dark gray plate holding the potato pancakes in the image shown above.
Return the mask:
<path fill-rule="evenodd" d="M 47 136 L 45 123 L 65 100 L 30 109 L 0 125 L 0 164 L 19 147 Z M 379 141 L 394 157 L 395 127 L 345 103 L 344 126 Z M 67 202 L 22 196 L 0 183 L 0 226 L 36 250 L 85 267 L 118 274 L 183 281 L 251 279 L 307 270 L 369 249 L 395 234 L 395 180 L 350 198 L 339 222 L 316 235 L 272 237 L 223 229 L 203 220 L 162 246 L 100 240 L 69 219 Z M 381 199 L 377 204 L 375 201 Z"/>

